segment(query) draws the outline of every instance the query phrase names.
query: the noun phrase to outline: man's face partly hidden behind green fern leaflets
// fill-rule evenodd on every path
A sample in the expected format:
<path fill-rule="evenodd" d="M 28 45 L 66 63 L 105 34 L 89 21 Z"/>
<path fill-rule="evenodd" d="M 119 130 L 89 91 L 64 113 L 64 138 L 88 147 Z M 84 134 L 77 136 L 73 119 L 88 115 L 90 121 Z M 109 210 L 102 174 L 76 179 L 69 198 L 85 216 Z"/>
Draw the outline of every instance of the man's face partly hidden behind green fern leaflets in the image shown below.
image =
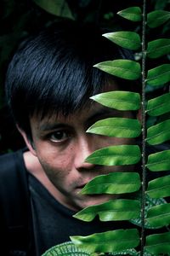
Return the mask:
<path fill-rule="evenodd" d="M 86 132 L 94 122 L 109 117 L 132 118 L 132 113 L 94 103 L 67 118 L 63 115 L 53 115 L 41 121 L 31 118 L 37 158 L 56 188 L 58 201 L 66 207 L 78 211 L 111 198 L 111 195 L 79 194 L 84 185 L 97 175 L 123 170 L 123 166 L 96 166 L 84 161 L 94 150 L 131 142 L 129 139 Z M 127 171 L 127 167 L 124 170 Z"/>

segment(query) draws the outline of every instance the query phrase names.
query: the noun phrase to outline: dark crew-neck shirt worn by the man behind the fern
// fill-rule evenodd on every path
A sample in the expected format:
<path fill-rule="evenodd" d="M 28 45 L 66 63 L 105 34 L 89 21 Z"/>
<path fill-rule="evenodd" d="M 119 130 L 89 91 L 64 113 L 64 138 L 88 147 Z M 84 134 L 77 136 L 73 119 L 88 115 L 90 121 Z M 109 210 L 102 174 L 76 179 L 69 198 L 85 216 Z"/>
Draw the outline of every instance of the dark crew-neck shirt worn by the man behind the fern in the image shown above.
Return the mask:
<path fill-rule="evenodd" d="M 95 218 L 92 222 L 83 222 L 77 218 L 73 218 L 72 215 L 75 212 L 56 201 L 49 194 L 48 190 L 42 186 L 42 183 L 26 171 L 22 154 L 22 151 L 14 153 L 13 160 L 14 166 L 17 166 L 17 170 L 20 169 L 21 172 L 26 172 L 29 201 L 31 201 L 30 225 L 32 230 L 31 240 L 33 240 L 31 244 L 35 245 L 35 255 L 39 256 L 50 247 L 70 241 L 70 236 L 88 236 L 93 233 L 125 227 L 123 222 L 100 222 L 98 218 Z M 8 163 L 7 159 L 6 161 Z M 6 168 L 8 168 L 8 164 Z M 17 207 L 17 205 L 14 204 L 14 207 Z M 11 214 L 11 216 L 13 215 Z M 130 226 L 132 227 L 132 224 L 126 224 L 126 228 Z M 11 255 L 17 254 L 13 253 Z"/>

